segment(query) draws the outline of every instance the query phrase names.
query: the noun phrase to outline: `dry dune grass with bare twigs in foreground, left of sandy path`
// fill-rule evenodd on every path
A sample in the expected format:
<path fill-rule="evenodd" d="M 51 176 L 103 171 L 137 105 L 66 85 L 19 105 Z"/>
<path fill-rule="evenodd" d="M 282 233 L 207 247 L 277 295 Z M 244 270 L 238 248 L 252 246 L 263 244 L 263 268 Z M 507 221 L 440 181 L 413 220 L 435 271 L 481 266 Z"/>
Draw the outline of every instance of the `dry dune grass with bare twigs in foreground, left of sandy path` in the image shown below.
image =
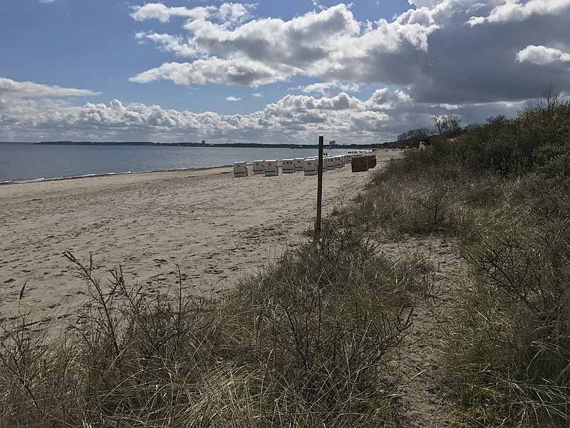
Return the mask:
<path fill-rule="evenodd" d="M 221 299 L 101 280 L 66 332 L 21 314 L 0 350 L 1 427 L 378 427 L 400 414 L 395 352 L 417 264 L 326 223 Z M 23 296 L 25 298 L 25 296 Z"/>

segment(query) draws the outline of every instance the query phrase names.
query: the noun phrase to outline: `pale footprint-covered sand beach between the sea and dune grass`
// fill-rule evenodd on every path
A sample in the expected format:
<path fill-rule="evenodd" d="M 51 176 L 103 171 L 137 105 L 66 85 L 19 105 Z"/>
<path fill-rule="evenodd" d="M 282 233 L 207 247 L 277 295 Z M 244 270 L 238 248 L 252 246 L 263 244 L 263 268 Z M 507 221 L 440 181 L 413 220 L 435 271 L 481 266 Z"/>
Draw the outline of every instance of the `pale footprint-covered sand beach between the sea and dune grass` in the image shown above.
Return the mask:
<path fill-rule="evenodd" d="M 381 161 L 397 152 L 379 153 Z M 367 173 L 329 172 L 323 210 L 348 203 Z M 0 320 L 21 305 L 68 313 L 85 300 L 71 263 L 93 255 L 98 273 L 123 266 L 147 292 L 175 286 L 217 293 L 304 239 L 317 178 L 233 178 L 230 168 L 140 173 L 0 186 Z"/>

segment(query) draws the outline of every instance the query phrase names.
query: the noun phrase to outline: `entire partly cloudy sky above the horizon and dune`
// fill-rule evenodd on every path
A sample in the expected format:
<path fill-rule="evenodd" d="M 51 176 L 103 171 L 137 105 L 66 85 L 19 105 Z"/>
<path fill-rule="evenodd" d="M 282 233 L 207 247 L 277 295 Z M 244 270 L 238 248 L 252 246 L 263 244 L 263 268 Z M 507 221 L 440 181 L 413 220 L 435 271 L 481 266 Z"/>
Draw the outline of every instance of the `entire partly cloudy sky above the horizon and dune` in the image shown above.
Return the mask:
<path fill-rule="evenodd" d="M 570 0 L 254 1 L 1 0 L 0 141 L 382 143 L 570 93 Z"/>

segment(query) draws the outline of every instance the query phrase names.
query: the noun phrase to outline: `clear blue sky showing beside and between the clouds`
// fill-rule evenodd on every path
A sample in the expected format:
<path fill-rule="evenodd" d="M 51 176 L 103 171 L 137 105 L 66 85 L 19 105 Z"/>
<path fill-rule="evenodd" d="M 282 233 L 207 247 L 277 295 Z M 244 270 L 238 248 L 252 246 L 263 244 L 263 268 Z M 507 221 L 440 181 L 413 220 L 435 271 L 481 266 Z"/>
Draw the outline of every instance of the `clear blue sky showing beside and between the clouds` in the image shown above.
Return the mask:
<path fill-rule="evenodd" d="M 249 87 L 208 86 L 181 89 L 171 83 L 152 85 L 130 83 L 128 78 L 170 61 L 172 56 L 158 51 L 150 44 L 139 44 L 139 31 L 160 29 L 180 32 L 182 19 L 153 25 L 135 22 L 129 16 L 132 6 L 147 1 L 113 0 L 3 0 L 0 5 L 0 57 L 11 61 L 0 63 L 0 76 L 19 81 L 34 81 L 73 88 L 90 88 L 101 92 L 94 102 L 120 98 L 129 103 L 158 103 L 165 108 L 192 111 L 244 113 L 263 108 L 291 86 L 301 86 L 313 79 L 296 78 L 291 83 L 271 85 L 259 91 Z M 168 6 L 204 6 L 204 1 L 162 1 Z M 212 2 L 219 4 L 220 2 Z M 323 6 L 338 4 L 323 1 Z M 353 14 L 361 19 L 391 19 L 409 8 L 408 1 L 359 1 Z M 256 16 L 271 16 L 289 20 L 314 10 L 310 0 L 261 1 Z M 261 98 L 251 93 L 263 92 Z M 226 101 L 228 94 L 242 98 L 242 103 Z"/>

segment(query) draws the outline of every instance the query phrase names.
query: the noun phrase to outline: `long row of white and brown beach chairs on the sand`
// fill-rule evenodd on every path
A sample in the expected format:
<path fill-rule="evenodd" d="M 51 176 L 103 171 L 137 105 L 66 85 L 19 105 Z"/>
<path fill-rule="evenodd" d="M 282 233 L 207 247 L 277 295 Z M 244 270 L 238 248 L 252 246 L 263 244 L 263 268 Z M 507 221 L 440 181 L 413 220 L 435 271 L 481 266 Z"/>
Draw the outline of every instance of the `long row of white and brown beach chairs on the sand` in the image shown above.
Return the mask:
<path fill-rule="evenodd" d="M 344 165 L 351 163 L 352 172 L 359 173 L 367 171 L 376 166 L 375 153 L 348 153 L 346 155 L 325 156 L 323 158 L 323 171 L 341 170 Z M 249 169 L 247 162 L 234 163 L 234 177 L 247 177 Z M 279 175 L 279 161 L 254 161 L 252 163 L 253 175 L 264 175 L 274 177 Z M 291 174 L 303 171 L 304 175 L 318 174 L 318 158 L 295 158 L 283 159 L 281 161 L 281 172 Z"/>

